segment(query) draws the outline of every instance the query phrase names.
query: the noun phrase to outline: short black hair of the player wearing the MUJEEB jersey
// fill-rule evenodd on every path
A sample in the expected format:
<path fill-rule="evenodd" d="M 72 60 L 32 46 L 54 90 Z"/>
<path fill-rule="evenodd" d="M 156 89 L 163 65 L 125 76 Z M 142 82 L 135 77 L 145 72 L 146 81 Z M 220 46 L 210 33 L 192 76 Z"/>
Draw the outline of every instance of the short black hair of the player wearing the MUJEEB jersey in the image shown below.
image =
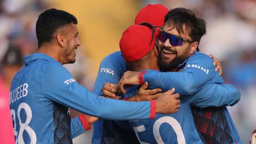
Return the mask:
<path fill-rule="evenodd" d="M 43 43 L 51 42 L 55 31 L 70 23 L 77 25 L 77 19 L 66 11 L 49 9 L 41 13 L 36 21 L 38 48 Z"/>

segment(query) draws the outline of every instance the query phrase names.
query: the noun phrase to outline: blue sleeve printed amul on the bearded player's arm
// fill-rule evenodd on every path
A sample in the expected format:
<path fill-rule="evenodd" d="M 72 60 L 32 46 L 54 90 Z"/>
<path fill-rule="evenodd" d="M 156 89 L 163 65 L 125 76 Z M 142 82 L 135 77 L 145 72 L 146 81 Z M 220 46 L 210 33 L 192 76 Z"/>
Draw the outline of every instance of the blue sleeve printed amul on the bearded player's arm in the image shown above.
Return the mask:
<path fill-rule="evenodd" d="M 188 59 L 181 73 L 145 73 L 143 82 L 148 82 L 149 87 L 161 88 L 163 91 L 174 87 L 175 93 L 191 95 L 196 93 L 215 73 L 213 60 L 199 53 Z"/>

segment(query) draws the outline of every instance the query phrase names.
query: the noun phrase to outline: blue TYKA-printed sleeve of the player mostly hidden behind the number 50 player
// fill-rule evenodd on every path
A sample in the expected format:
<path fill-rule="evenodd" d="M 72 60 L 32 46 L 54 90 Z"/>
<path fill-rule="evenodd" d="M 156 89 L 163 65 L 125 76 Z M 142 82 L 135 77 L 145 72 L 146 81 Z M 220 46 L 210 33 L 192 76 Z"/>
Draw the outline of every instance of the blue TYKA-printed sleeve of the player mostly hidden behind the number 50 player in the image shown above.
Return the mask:
<path fill-rule="evenodd" d="M 93 93 L 101 95 L 105 83 L 118 84 L 125 71 L 126 63 L 120 51 L 108 55 L 100 63 Z"/>

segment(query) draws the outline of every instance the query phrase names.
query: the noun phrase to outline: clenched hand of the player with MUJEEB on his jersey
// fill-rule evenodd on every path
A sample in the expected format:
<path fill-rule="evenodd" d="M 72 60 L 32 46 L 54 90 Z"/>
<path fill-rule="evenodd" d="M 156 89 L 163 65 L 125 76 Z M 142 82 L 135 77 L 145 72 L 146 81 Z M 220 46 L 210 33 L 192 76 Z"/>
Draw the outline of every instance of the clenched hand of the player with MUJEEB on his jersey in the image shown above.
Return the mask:
<path fill-rule="evenodd" d="M 164 92 L 157 100 L 156 100 L 156 113 L 161 114 L 171 114 L 176 113 L 180 108 L 180 94 L 173 92 L 175 89 Z"/>

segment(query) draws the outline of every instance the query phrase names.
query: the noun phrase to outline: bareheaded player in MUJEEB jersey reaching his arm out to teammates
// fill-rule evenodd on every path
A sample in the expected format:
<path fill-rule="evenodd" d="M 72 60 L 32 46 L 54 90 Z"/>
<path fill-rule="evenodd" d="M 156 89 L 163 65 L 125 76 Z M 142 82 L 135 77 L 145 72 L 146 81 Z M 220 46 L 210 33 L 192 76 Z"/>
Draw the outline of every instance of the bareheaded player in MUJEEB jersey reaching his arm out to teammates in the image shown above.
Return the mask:
<path fill-rule="evenodd" d="M 72 143 L 89 128 L 83 115 L 70 120 L 70 108 L 104 119 L 147 119 L 174 113 L 179 94 L 163 93 L 156 101 L 126 102 L 100 98 L 76 82 L 62 65 L 76 61 L 77 19 L 49 9 L 36 22 L 38 53 L 25 57 L 14 76 L 10 109 L 17 143 Z"/>

